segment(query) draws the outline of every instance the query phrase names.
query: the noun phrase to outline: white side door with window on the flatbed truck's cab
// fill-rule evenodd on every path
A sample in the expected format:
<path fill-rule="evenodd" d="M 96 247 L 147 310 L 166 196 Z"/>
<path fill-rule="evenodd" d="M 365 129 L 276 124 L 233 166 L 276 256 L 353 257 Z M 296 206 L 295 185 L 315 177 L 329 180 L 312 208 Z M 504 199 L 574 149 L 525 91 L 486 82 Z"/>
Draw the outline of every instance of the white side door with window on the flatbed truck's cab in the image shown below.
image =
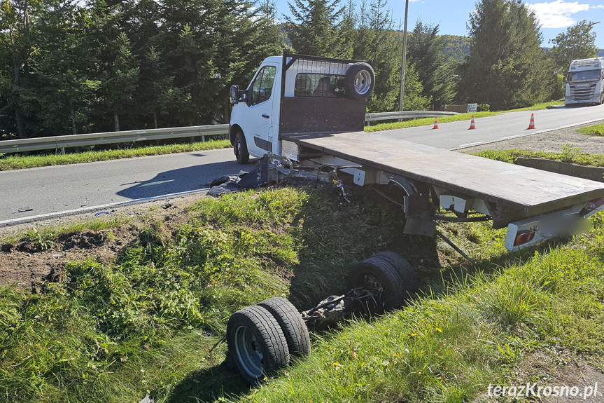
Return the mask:
<path fill-rule="evenodd" d="M 246 142 L 248 151 L 251 154 L 262 156 L 267 152 L 272 152 L 272 122 L 274 121 L 274 100 L 278 98 L 273 94 L 275 76 L 277 73 L 276 64 L 266 64 L 256 74 L 254 81 L 250 84 L 250 107 L 246 118 Z"/>

